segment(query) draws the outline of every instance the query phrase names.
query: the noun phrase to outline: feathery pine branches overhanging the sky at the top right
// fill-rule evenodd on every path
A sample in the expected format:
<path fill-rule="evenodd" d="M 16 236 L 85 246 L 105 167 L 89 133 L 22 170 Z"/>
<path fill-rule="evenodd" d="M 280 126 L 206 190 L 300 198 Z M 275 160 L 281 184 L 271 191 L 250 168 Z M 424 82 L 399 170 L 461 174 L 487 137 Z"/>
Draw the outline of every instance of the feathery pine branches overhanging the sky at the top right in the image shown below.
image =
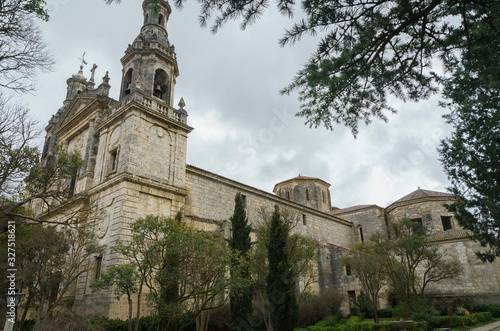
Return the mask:
<path fill-rule="evenodd" d="M 174 3 L 182 7 L 185 1 Z M 241 19 L 245 29 L 270 4 L 269 0 L 198 2 L 200 24 L 210 25 L 214 33 L 234 19 Z M 291 17 L 299 4 L 277 0 L 276 6 Z M 499 14 L 499 4 L 489 0 L 302 0 L 300 8 L 304 18 L 286 30 L 280 44 L 317 34 L 321 41 L 282 93 L 299 92 L 297 115 L 310 126 L 333 129 L 344 124 L 354 135 L 360 122 L 386 120 L 386 113 L 395 111 L 389 95 L 417 101 L 436 93 L 443 77 L 434 69 L 436 60 L 466 58 L 472 45 L 470 27 L 480 22 L 495 31 Z M 476 41 L 490 45 L 486 39 Z M 495 56 L 498 59 L 498 53 Z"/>

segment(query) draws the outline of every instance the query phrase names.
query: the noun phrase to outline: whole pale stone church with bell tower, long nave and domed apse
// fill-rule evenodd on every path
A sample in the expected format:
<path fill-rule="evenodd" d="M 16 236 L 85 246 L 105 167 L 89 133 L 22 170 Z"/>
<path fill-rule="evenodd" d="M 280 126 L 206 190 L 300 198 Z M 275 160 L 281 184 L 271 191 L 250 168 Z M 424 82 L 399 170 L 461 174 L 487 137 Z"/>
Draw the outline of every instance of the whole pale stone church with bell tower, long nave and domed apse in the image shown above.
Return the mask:
<path fill-rule="evenodd" d="M 431 229 L 432 244 L 464 266 L 462 276 L 430 287 L 427 293 L 446 297 L 500 298 L 500 265 L 482 263 L 478 249 L 443 203 L 447 193 L 418 189 L 387 207 L 377 205 L 332 207 L 330 184 L 298 176 L 277 183 L 273 193 L 186 164 L 189 126 L 184 101 L 174 105 L 179 70 L 176 53 L 166 30 L 171 8 L 166 1 L 142 4 L 144 24 L 121 58 L 123 76 L 118 100 L 109 97 L 108 74 L 97 85 L 80 71 L 67 80 L 63 106 L 49 121 L 43 157 L 53 157 L 55 145 L 79 152 L 84 160 L 72 182 L 72 206 L 88 196 L 98 210 L 96 233 L 106 251 L 96 256 L 97 270 L 83 275 L 72 293 L 73 309 L 99 312 L 112 318 L 126 311 L 125 300 L 111 292 L 92 294 L 91 283 L 108 266 L 118 263 L 110 247 L 126 239 L 129 224 L 149 214 L 173 217 L 180 210 L 186 222 L 206 231 L 223 231 L 234 209 L 236 193 L 242 194 L 253 224 L 263 209 L 275 205 L 297 217 L 294 231 L 316 238 L 322 245 L 317 290 L 336 288 L 349 299 L 359 295 L 360 285 L 341 265 L 341 256 L 355 242 L 377 230 L 386 231 L 396 219 L 409 217 Z M 201 167 L 203 165 L 200 165 Z M 42 213 L 43 214 L 43 213 Z M 57 220 L 58 213 L 45 213 Z"/>

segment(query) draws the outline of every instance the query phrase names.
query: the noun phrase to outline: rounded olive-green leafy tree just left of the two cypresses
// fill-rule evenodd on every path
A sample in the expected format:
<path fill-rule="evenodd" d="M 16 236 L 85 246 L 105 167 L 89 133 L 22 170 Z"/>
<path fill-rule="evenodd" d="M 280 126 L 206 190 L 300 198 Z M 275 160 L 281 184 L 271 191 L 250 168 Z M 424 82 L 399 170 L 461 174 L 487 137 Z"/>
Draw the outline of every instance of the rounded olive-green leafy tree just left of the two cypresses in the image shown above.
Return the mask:
<path fill-rule="evenodd" d="M 129 243 L 117 250 L 135 264 L 160 317 L 161 331 L 182 329 L 218 307 L 229 289 L 226 267 L 233 255 L 223 238 L 176 219 L 147 216 L 131 225 Z M 181 322 L 183 316 L 191 316 Z"/>

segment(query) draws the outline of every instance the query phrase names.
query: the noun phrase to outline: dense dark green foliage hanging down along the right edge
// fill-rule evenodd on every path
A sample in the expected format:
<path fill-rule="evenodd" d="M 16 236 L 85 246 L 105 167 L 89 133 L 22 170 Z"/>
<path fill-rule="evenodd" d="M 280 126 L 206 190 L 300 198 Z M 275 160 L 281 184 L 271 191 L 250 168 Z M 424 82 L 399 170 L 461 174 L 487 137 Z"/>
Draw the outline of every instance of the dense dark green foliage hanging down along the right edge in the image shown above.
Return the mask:
<path fill-rule="evenodd" d="M 450 78 L 444 81 L 444 106 L 453 126 L 451 137 L 441 143 L 440 156 L 451 180 L 450 191 L 459 199 L 448 206 L 459 224 L 473 232 L 487 252 L 483 261 L 500 256 L 500 6 L 485 17 L 467 12 L 471 22 L 457 43 L 466 56 L 447 61 Z"/>

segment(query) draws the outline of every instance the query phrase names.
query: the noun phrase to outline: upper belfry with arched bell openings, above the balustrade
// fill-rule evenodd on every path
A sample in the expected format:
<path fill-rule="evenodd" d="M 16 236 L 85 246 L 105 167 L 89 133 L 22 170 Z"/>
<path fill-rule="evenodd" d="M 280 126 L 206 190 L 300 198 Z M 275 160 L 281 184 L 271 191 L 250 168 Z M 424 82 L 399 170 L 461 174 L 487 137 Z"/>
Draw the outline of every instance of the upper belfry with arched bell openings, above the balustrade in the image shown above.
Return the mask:
<path fill-rule="evenodd" d="M 167 22 L 172 9 L 167 1 L 145 0 L 144 24 L 125 51 L 120 100 L 141 91 L 157 102 L 173 106 L 175 79 L 179 76 L 175 48 L 170 44 Z"/>

